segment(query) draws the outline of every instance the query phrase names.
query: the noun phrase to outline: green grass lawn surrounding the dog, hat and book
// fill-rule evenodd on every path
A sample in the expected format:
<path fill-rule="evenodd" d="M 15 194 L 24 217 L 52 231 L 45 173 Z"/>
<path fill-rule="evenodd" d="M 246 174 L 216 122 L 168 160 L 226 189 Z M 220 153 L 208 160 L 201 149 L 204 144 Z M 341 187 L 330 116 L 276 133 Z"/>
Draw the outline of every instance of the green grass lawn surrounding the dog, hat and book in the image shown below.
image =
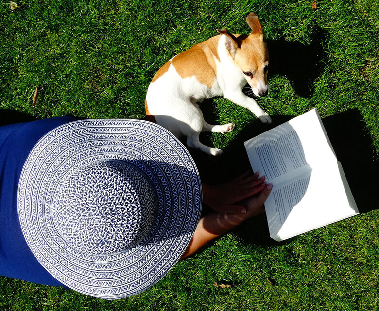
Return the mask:
<path fill-rule="evenodd" d="M 323 118 L 353 111 L 369 141 L 365 155 L 378 158 L 378 5 L 374 0 L 319 0 L 314 10 L 311 2 L 25 0 L 11 11 L 3 1 L 0 113 L 143 118 L 147 87 L 161 65 L 217 34 L 216 29 L 248 33 L 245 17 L 254 11 L 271 47 L 279 44 L 301 56 L 270 50 L 272 62 L 281 59 L 285 68 L 270 68 L 270 93 L 258 102 L 274 125 L 313 107 Z M 241 141 L 266 128 L 224 98 L 207 101 L 204 112 L 207 120 L 236 123 L 230 134 L 201 137 L 225 149 L 224 159 L 204 160 L 194 153 L 205 179 L 226 179 L 246 168 Z M 361 179 L 365 189 L 364 172 Z M 378 210 L 285 243 L 270 240 L 266 227 L 264 217 L 252 220 L 179 262 L 153 288 L 118 301 L 1 277 L 0 308 L 379 310 Z M 217 288 L 215 282 L 230 287 Z"/>

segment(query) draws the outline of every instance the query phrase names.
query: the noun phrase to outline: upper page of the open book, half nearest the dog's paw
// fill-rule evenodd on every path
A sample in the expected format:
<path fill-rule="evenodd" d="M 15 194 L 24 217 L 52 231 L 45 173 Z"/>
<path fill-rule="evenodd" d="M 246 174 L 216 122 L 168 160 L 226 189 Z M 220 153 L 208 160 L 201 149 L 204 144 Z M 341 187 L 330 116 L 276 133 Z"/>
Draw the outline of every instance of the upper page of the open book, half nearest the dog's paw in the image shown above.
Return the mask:
<path fill-rule="evenodd" d="M 245 148 L 253 171 L 273 185 L 335 160 L 316 109 L 249 139 Z"/>

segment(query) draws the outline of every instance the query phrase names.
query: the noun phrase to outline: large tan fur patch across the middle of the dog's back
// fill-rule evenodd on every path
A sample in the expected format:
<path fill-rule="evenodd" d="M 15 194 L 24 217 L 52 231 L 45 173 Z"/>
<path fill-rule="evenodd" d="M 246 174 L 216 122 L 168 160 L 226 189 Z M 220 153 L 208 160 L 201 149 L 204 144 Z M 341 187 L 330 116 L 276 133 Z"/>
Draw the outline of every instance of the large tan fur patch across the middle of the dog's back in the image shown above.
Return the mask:
<path fill-rule="evenodd" d="M 172 59 L 172 65 L 180 77 L 196 79 L 209 88 L 212 88 L 216 79 L 216 62 L 220 61 L 217 53 L 217 43 L 220 36 L 212 37 L 207 41 L 194 45 Z"/>

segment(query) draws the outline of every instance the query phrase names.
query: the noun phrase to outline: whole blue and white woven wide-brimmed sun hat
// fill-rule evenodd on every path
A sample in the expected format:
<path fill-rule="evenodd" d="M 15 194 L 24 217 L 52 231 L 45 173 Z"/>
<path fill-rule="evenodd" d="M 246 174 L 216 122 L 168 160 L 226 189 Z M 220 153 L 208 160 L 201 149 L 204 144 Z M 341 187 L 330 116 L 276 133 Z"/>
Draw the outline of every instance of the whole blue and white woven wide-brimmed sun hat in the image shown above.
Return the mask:
<path fill-rule="evenodd" d="M 162 127 L 83 120 L 34 146 L 18 187 L 21 228 L 61 283 L 105 299 L 163 278 L 192 238 L 202 203 L 197 168 Z"/>

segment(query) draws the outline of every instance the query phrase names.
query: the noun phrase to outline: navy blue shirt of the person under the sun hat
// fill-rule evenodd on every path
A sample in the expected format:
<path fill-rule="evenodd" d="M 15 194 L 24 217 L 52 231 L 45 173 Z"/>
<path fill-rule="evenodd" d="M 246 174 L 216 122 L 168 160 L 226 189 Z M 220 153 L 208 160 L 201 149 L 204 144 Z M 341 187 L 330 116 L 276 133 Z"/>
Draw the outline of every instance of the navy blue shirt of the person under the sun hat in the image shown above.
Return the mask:
<path fill-rule="evenodd" d="M 25 242 L 17 213 L 22 167 L 38 140 L 76 119 L 65 116 L 0 127 L 0 275 L 38 284 L 63 286 L 36 260 Z"/>

